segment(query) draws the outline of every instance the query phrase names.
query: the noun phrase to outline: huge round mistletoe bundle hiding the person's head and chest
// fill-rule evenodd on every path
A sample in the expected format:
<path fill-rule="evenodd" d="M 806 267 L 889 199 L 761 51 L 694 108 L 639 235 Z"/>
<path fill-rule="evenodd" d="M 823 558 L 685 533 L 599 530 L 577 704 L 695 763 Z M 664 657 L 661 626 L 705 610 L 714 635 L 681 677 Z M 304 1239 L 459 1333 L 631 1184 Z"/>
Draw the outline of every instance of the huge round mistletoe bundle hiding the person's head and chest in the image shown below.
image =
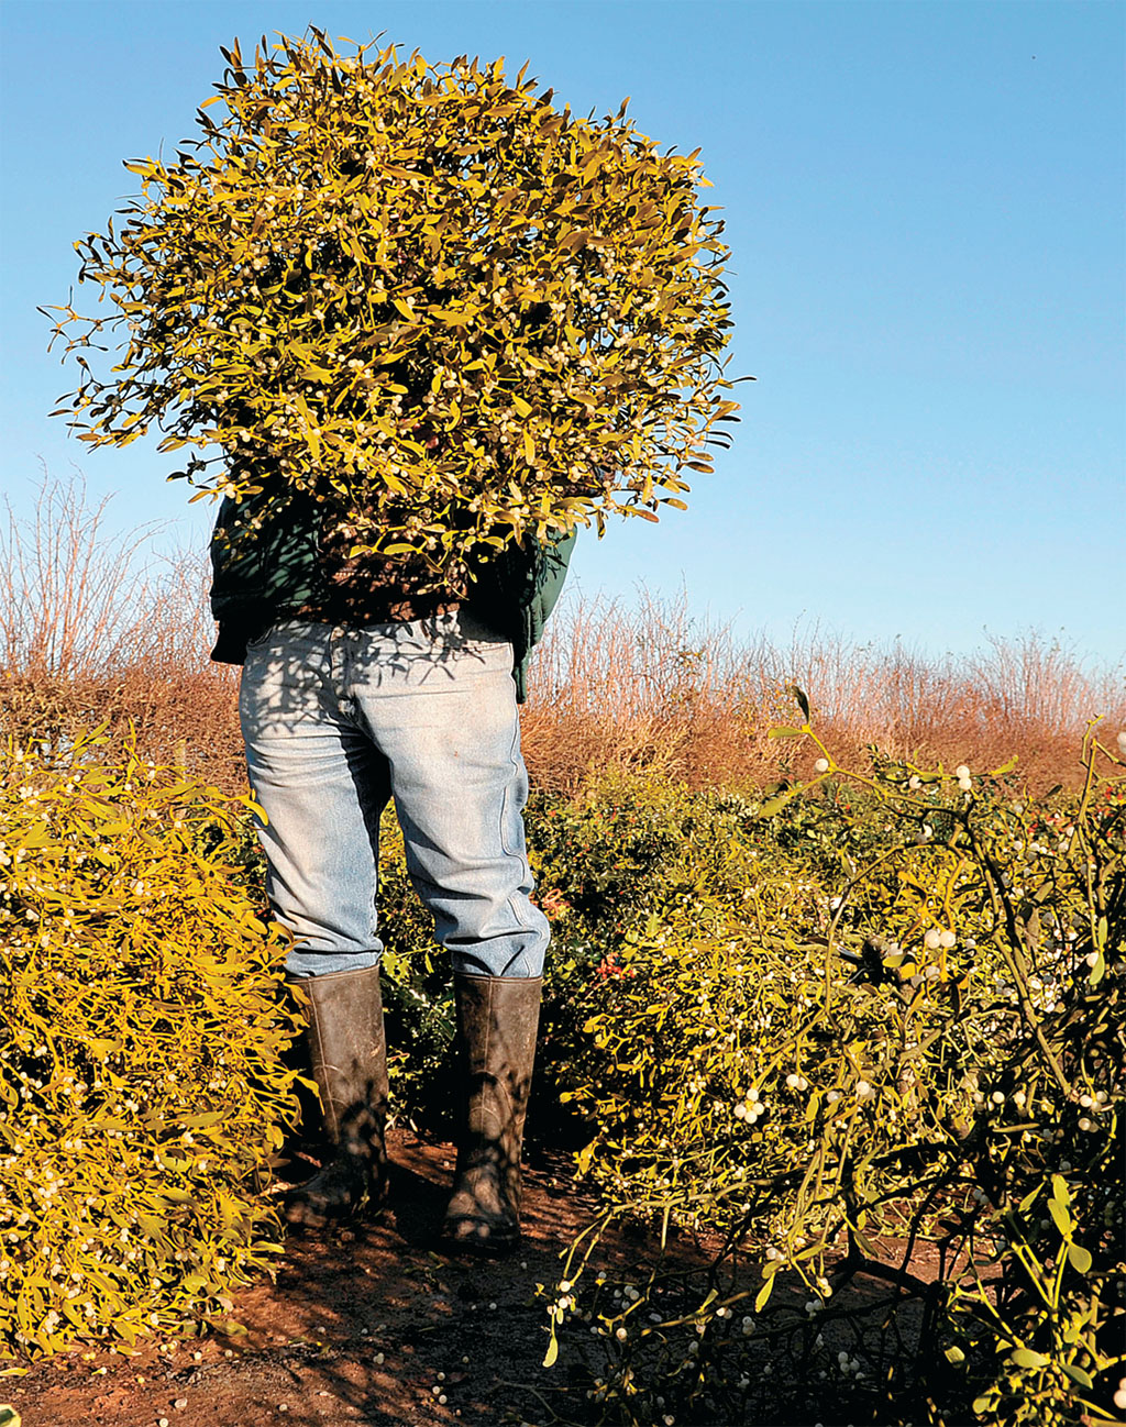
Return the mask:
<path fill-rule="evenodd" d="M 225 116 L 203 106 L 174 163 L 128 163 L 126 224 L 76 244 L 116 308 L 53 308 L 77 330 L 81 438 L 156 421 L 161 450 L 217 442 L 197 484 L 311 492 L 357 552 L 432 572 L 525 529 L 682 507 L 738 420 L 699 150 L 658 154 L 625 104 L 559 111 L 527 66 L 509 84 L 501 60 L 344 56 L 311 30 L 248 66 L 224 50 L 207 104 Z M 121 324 L 100 380 L 86 357 Z"/>

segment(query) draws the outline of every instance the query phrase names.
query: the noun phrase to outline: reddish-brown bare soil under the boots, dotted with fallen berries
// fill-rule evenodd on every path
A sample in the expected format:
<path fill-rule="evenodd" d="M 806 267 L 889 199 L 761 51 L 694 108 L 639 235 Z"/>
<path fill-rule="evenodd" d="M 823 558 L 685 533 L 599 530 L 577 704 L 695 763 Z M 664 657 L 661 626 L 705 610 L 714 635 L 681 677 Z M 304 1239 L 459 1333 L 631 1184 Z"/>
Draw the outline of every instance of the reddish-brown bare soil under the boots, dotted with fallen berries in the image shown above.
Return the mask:
<path fill-rule="evenodd" d="M 452 1177 L 451 1146 L 391 1130 L 388 1149 L 387 1209 L 347 1229 L 294 1234 L 275 1283 L 233 1294 L 231 1317 L 245 1334 L 117 1351 L 76 1347 L 0 1378 L 0 1401 L 21 1414 L 23 1427 L 597 1421 L 584 1364 L 567 1339 L 558 1361 L 541 1366 L 547 1304 L 537 1284 L 558 1283 L 561 1256 L 597 1212 L 572 1177 L 571 1156 L 531 1149 L 524 1243 L 509 1259 L 481 1260 L 445 1254 L 434 1237 Z M 638 1233 L 605 1237 L 598 1261 L 611 1273 L 639 1270 L 655 1246 Z M 699 1264 L 705 1250 L 682 1240 L 672 1259 Z M 756 1286 L 758 1273 L 746 1267 Z M 885 1287 L 858 1279 L 849 1293 L 862 1300 Z M 788 1291 L 779 1287 L 775 1299 Z M 755 1427 L 771 1424 L 756 1414 Z"/>

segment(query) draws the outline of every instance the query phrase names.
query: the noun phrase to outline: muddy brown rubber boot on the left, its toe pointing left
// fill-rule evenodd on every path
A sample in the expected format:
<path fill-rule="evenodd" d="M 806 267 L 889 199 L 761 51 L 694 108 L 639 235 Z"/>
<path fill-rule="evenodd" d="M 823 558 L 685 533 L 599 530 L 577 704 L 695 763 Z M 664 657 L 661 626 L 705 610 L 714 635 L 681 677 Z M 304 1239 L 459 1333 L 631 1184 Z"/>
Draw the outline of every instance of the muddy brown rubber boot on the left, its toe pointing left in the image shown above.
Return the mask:
<path fill-rule="evenodd" d="M 321 1229 L 387 1197 L 387 1040 L 380 968 L 287 979 L 308 1007 L 308 1049 L 334 1156 L 287 1192 L 283 1216 Z"/>

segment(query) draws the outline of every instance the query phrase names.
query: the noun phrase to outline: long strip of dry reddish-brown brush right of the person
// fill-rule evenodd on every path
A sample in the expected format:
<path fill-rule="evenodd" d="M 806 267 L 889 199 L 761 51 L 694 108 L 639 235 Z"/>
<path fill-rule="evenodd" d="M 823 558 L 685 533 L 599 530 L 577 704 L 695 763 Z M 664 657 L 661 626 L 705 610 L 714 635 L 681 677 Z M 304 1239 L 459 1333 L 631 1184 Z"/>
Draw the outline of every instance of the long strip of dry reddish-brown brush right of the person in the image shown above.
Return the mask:
<path fill-rule="evenodd" d="M 818 626 L 778 646 L 741 644 L 685 598 L 638 605 L 571 599 L 541 646 L 524 746 L 532 776 L 574 788 L 589 768 L 651 766 L 692 786 L 755 785 L 808 772 L 816 751 L 769 738 L 801 722 L 802 688 L 839 762 L 875 746 L 975 772 L 1013 755 L 1032 792 L 1082 779 L 1087 719 L 1126 722 L 1123 666 L 1090 669 L 1030 632 L 970 656 L 930 661 L 895 642 L 858 645 Z"/>

